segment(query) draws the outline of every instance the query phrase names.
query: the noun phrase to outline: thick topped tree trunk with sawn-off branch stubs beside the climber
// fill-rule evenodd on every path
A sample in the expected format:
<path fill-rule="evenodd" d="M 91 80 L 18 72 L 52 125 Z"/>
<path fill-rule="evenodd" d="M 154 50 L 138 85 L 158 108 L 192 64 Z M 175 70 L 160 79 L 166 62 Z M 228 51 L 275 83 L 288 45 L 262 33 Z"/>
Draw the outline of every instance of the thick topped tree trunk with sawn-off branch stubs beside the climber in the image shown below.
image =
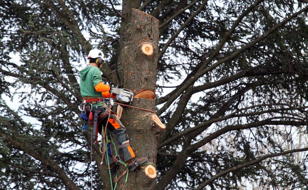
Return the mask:
<path fill-rule="evenodd" d="M 135 95 L 132 106 L 155 110 L 155 85 L 158 56 L 158 20 L 140 10 L 132 9 L 132 21 L 128 30 L 129 44 L 122 51 L 124 88 Z M 145 95 L 144 95 L 145 94 Z M 150 94 L 150 95 L 149 95 Z M 128 130 L 130 144 L 137 157 L 148 157 L 156 164 L 157 145 L 163 129 L 153 121 L 154 113 L 135 108 L 124 108 L 121 121 Z M 145 167 L 137 168 L 119 182 L 119 189 L 154 189 L 156 177 L 145 175 Z M 123 168 L 121 170 L 123 172 Z"/>

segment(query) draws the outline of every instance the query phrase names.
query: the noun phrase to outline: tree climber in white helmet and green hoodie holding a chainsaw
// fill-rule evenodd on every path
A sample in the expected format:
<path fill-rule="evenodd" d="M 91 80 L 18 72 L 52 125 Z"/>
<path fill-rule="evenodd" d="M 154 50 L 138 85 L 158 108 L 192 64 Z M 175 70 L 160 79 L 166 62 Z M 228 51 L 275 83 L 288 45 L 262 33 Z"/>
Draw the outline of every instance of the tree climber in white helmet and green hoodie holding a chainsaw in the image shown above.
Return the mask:
<path fill-rule="evenodd" d="M 85 66 L 80 71 L 80 93 L 83 97 L 83 101 L 86 102 L 84 105 L 84 111 L 86 117 L 89 118 L 88 123 L 93 124 L 94 130 L 96 129 L 96 131 L 101 131 L 102 126 L 105 126 L 108 122 L 107 129 L 112 131 L 112 133 L 116 135 L 119 142 L 119 148 L 122 150 L 122 154 L 126 164 L 128 164 L 127 168 L 130 171 L 133 171 L 140 164 L 146 162 L 148 158 L 143 157 L 140 159 L 135 159 L 135 154 L 129 144 L 129 137 L 126 132 L 126 128 L 123 126 L 121 121 L 116 118 L 115 115 L 112 113 L 109 113 L 110 118 L 108 120 L 108 107 L 103 102 L 103 98 L 111 97 L 111 94 L 109 92 L 111 90 L 111 86 L 103 84 L 101 77 L 100 68 L 102 67 L 102 63 L 105 61 L 103 52 L 99 49 L 92 49 L 89 52 L 88 60 L 89 65 Z M 96 127 L 95 123 L 97 123 Z M 97 136 L 94 144 L 97 144 Z M 108 149 L 110 150 L 110 144 L 108 144 L 108 147 Z M 113 160 L 113 157 L 107 152 L 108 150 L 105 152 L 105 158 L 109 159 L 109 163 L 111 163 L 111 174 L 114 174 L 117 167 L 115 161 Z"/>

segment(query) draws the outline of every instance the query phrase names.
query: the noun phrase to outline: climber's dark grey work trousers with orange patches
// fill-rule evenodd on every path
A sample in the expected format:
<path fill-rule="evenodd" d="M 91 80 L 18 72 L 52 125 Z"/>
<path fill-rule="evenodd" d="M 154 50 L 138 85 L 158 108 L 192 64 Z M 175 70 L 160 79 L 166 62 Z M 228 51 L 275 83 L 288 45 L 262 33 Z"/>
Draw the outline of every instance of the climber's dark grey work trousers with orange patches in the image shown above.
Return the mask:
<path fill-rule="evenodd" d="M 92 109 L 93 115 L 94 115 L 95 109 L 99 109 L 101 111 L 100 113 L 103 113 L 106 110 L 106 108 L 103 107 L 103 106 L 99 106 L 97 108 L 93 107 L 93 109 Z M 116 118 L 116 116 L 114 114 L 111 114 L 109 121 L 108 121 L 108 115 L 106 117 L 100 119 L 98 121 L 98 124 L 97 124 L 98 125 L 98 131 L 99 131 L 99 133 L 101 133 L 102 127 L 103 127 L 103 129 L 105 129 L 106 123 L 108 121 L 106 136 L 110 132 L 115 134 L 115 136 L 117 137 L 117 140 L 118 140 L 118 144 L 123 145 L 123 146 L 126 145 L 126 147 L 120 148 L 121 151 L 122 151 L 124 160 L 125 161 L 130 160 L 130 159 L 135 157 L 135 154 L 132 150 L 132 147 L 129 145 L 129 137 L 128 137 L 126 128 L 124 127 L 124 125 L 121 123 L 121 121 L 118 118 L 116 118 L 115 120 L 114 120 L 114 118 Z M 108 138 L 110 139 L 110 136 L 108 136 Z M 106 159 L 108 158 L 109 164 L 114 162 L 114 160 L 111 156 L 112 155 L 111 149 L 110 149 L 111 146 L 113 146 L 113 144 L 109 143 L 107 145 L 107 151 L 105 152 L 105 158 Z M 109 153 L 107 154 L 107 152 L 109 152 Z M 106 160 L 106 164 L 107 164 L 107 160 Z"/>

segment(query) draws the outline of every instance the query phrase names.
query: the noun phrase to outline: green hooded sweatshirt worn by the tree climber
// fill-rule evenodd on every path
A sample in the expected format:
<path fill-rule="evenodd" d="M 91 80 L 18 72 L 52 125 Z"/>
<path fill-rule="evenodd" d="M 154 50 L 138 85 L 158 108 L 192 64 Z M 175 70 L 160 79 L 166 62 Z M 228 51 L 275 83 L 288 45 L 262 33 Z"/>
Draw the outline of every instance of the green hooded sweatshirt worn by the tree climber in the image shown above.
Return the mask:
<path fill-rule="evenodd" d="M 80 73 L 80 93 L 82 97 L 103 97 L 101 92 L 95 90 L 95 86 L 102 81 L 101 71 L 98 67 L 87 65 Z"/>

